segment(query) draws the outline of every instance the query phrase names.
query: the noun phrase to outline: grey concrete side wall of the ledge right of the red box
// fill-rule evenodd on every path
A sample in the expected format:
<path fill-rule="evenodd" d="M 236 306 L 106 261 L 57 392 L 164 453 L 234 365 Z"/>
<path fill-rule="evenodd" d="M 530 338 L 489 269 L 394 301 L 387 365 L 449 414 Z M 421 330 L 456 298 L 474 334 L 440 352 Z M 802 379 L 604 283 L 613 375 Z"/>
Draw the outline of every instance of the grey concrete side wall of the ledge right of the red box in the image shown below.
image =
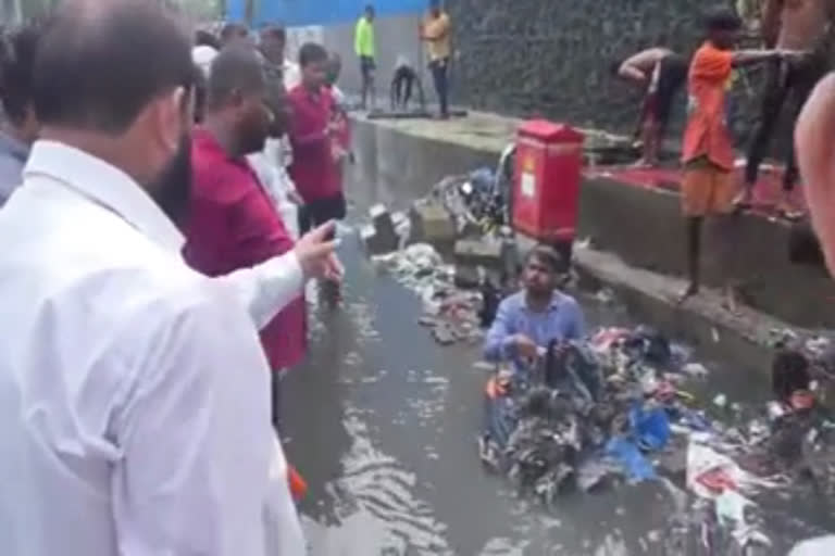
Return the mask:
<path fill-rule="evenodd" d="M 685 228 L 680 195 L 663 189 L 640 188 L 607 177 L 583 182 L 581 237 L 596 248 L 618 253 L 626 263 L 664 275 L 685 273 Z M 709 223 L 710 224 L 710 223 Z M 757 215 L 741 215 L 735 226 L 735 263 L 723 266 L 718 235 L 710 225 L 703 242 L 705 282 L 721 286 L 728 277 L 738 283 L 746 303 L 796 326 L 835 326 L 835 282 L 821 268 L 788 260 L 790 226 Z"/>

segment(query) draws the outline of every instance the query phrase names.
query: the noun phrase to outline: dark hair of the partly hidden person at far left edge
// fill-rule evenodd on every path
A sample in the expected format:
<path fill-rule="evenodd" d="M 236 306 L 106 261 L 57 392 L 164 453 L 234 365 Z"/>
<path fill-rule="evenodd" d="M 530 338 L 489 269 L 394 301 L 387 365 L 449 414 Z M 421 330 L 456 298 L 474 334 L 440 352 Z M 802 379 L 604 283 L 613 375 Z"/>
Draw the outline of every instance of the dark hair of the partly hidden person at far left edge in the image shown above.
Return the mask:
<path fill-rule="evenodd" d="M 26 119 L 33 105 L 32 81 L 40 34 L 40 23 L 33 22 L 14 29 L 0 43 L 0 102 L 14 125 Z"/>

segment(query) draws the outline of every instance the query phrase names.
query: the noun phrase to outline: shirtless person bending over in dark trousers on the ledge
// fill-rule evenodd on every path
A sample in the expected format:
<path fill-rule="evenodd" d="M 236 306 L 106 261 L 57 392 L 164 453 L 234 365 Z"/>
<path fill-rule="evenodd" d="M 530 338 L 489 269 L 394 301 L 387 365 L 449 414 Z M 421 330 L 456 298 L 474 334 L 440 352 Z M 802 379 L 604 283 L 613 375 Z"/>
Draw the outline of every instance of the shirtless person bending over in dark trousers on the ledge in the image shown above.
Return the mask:
<path fill-rule="evenodd" d="M 666 48 L 650 48 L 613 64 L 618 77 L 645 88 L 639 134 L 644 154 L 638 165 L 658 163 L 675 93 L 687 80 L 687 60 Z"/>

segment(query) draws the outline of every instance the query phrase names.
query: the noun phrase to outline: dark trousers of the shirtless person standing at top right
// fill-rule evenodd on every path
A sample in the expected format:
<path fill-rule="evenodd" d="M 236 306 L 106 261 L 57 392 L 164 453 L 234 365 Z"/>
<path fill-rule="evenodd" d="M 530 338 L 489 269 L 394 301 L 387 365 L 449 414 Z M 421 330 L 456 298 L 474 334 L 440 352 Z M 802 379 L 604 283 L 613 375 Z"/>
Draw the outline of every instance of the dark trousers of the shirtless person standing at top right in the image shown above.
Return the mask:
<path fill-rule="evenodd" d="M 800 63 L 775 61 L 769 65 L 760 121 L 748 149 L 748 162 L 745 168 L 745 181 L 749 187 L 757 182 L 760 164 L 769 150 L 774 128 L 780 121 L 783 106 L 786 101 L 789 101 L 792 136 L 785 153 L 786 173 L 783 176 L 783 189 L 785 191 L 794 189 L 798 176 L 794 147 L 795 122 L 815 84 L 826 73 L 826 66 L 825 59 L 821 59 L 821 56 L 814 56 Z"/>

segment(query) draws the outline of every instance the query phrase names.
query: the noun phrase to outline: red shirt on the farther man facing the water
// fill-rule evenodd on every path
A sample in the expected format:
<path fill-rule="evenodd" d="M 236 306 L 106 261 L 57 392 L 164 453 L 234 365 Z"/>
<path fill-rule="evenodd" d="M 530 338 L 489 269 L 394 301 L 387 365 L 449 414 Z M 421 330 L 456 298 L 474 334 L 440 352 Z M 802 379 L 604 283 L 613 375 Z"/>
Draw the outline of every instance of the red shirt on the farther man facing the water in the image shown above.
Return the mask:
<path fill-rule="evenodd" d="M 304 202 L 333 199 L 342 186 L 332 152 L 332 138 L 326 134 L 336 110 L 331 92 L 322 87 L 311 93 L 302 85 L 287 96 L 290 103 L 290 177 Z"/>

